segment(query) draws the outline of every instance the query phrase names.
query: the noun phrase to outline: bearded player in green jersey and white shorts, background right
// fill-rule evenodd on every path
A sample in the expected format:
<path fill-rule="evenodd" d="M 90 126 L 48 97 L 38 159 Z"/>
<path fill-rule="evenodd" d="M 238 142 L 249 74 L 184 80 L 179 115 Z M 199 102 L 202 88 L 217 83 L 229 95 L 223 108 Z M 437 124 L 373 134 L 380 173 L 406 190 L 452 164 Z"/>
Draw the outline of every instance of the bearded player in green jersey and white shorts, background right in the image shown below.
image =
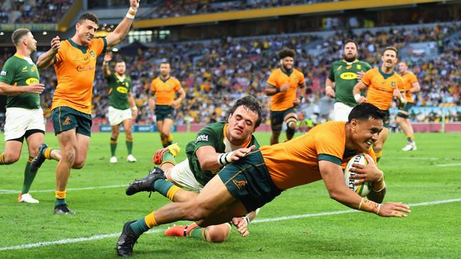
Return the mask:
<path fill-rule="evenodd" d="M 352 95 L 357 81 L 372 67 L 357 59 L 357 42 L 346 40 L 343 47 L 344 59 L 333 62 L 325 82 L 326 96 L 335 98 L 333 120 L 348 121 L 349 113 L 357 102 Z"/>

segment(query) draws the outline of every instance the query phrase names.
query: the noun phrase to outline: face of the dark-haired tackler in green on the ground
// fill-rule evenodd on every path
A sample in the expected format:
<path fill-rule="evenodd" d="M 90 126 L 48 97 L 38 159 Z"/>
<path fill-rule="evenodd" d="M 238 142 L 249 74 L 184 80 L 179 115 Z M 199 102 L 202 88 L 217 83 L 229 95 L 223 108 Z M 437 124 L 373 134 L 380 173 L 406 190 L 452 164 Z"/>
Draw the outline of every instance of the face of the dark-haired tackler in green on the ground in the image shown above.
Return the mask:
<path fill-rule="evenodd" d="M 250 137 L 250 134 L 255 132 L 255 124 L 257 121 L 257 113 L 248 109 L 244 105 L 238 106 L 234 113 L 229 115 L 228 128 L 226 134 L 231 143 L 232 140 L 243 141 Z"/>

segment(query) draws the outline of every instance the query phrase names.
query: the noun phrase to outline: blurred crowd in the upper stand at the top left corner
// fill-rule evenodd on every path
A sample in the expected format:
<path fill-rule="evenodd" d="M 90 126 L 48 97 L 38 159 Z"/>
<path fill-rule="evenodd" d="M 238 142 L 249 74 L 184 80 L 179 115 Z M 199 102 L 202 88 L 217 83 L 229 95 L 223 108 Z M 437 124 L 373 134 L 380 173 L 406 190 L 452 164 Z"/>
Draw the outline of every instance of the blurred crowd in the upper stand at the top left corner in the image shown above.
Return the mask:
<path fill-rule="evenodd" d="M 0 1 L 0 22 L 58 23 L 73 2 L 71 0 Z"/>

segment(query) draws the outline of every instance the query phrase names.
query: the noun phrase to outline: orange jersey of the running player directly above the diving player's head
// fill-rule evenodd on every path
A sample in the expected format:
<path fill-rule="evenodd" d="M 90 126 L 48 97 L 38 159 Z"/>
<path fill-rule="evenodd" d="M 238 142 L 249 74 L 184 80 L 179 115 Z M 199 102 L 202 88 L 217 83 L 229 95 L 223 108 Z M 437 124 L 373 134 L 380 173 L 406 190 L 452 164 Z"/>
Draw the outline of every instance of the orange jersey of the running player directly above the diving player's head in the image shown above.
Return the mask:
<path fill-rule="evenodd" d="M 391 74 L 384 74 L 380 67 L 368 70 L 362 81 L 368 86 L 367 103 L 381 110 L 389 110 L 391 107 L 395 88 L 404 88 L 404 79 L 399 74 L 395 71 Z"/>

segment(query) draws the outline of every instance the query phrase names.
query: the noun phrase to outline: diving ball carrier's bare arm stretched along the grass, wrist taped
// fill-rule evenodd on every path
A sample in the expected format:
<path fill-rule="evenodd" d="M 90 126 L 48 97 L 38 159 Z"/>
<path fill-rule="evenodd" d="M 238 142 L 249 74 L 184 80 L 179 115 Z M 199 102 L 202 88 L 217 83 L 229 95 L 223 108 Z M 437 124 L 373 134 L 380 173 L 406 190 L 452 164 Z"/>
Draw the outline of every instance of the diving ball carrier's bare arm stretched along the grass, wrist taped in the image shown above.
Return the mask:
<path fill-rule="evenodd" d="M 408 206 L 400 202 L 380 204 L 360 197 L 344 184 L 343 170 L 333 162 L 318 161 L 318 167 L 330 197 L 343 205 L 382 217 L 407 217 L 404 212 L 411 212 Z"/>

